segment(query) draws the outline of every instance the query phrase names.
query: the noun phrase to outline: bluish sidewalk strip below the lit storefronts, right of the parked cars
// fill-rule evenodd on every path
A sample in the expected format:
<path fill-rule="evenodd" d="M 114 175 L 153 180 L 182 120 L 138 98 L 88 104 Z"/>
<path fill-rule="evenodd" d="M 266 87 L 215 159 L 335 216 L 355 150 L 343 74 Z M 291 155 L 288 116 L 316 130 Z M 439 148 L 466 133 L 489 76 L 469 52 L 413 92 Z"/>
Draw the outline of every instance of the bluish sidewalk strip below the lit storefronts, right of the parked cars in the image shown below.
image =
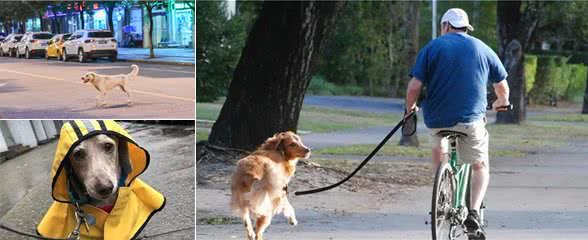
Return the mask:
<path fill-rule="evenodd" d="M 155 48 L 155 58 L 149 58 L 149 48 L 118 48 L 118 60 L 140 63 L 194 66 L 192 48 Z"/>

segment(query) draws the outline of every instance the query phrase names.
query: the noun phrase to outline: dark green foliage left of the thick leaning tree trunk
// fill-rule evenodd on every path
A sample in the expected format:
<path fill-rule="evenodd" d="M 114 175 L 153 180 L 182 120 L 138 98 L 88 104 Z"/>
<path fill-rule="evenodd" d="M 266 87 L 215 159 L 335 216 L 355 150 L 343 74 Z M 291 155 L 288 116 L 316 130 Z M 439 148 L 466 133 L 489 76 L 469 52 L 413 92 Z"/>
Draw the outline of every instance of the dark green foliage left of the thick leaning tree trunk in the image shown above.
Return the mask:
<path fill-rule="evenodd" d="M 241 14 L 227 19 L 223 2 L 198 1 L 196 7 L 196 101 L 226 96 L 245 45 L 246 29 L 255 19 L 258 3 L 241 3 Z"/>

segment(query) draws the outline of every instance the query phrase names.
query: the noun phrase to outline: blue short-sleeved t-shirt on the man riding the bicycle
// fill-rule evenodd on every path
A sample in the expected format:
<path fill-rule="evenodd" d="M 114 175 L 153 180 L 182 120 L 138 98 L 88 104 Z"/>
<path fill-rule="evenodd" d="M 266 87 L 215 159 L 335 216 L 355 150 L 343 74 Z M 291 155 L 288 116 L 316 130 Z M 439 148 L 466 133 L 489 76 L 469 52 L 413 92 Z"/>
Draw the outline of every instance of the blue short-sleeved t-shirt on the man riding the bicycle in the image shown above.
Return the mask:
<path fill-rule="evenodd" d="M 466 33 L 448 33 L 419 52 L 410 76 L 426 86 L 422 109 L 427 127 L 446 128 L 484 117 L 488 80 L 498 83 L 507 73 L 482 41 Z"/>

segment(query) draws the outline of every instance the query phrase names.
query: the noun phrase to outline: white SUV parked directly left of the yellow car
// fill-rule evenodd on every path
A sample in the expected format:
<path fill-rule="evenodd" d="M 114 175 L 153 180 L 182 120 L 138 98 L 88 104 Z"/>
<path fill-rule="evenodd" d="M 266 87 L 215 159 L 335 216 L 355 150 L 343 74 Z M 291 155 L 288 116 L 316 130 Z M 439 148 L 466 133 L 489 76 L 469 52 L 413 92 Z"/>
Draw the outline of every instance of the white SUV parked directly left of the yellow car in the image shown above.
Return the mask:
<path fill-rule="evenodd" d="M 33 55 L 44 56 L 47 42 L 53 37 L 50 32 L 27 32 L 16 44 L 16 57 L 25 56 L 30 59 Z"/>

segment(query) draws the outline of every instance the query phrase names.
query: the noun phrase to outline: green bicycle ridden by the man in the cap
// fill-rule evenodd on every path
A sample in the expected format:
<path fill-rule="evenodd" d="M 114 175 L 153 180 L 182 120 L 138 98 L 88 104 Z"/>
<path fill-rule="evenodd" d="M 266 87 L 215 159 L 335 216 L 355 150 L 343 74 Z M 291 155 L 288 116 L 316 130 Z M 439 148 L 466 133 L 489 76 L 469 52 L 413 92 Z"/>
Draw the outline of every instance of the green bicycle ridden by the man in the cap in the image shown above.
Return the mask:
<path fill-rule="evenodd" d="M 512 105 L 499 107 L 497 111 L 508 111 Z M 457 156 L 457 140 L 466 137 L 464 133 L 443 130 L 437 133 L 441 137 L 447 137 L 450 145 L 450 153 L 441 160 L 435 174 L 433 184 L 433 196 L 431 199 L 431 233 L 433 240 L 458 239 L 461 236 L 478 238 L 479 231 L 468 232 L 464 221 L 470 209 L 470 181 L 472 168 L 469 163 L 459 163 Z M 449 157 L 449 159 L 447 159 Z M 479 221 L 482 227 L 486 227 L 484 218 L 485 201 L 479 210 Z"/>

